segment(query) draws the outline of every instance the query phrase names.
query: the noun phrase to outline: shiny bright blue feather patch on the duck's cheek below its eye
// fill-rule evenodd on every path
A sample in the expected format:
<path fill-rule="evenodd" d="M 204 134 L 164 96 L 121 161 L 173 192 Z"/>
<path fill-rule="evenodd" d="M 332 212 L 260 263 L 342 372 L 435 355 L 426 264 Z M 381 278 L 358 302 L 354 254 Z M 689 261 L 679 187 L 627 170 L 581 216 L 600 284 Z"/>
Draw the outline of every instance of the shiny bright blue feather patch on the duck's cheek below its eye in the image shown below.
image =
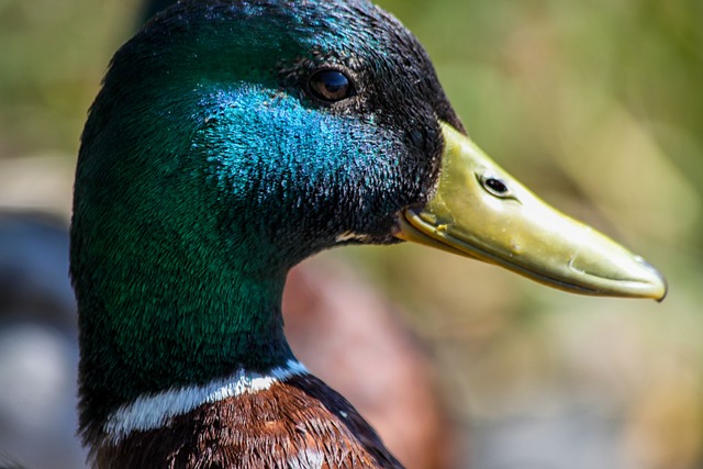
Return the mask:
<path fill-rule="evenodd" d="M 210 177 L 235 199 L 313 211 L 352 193 L 388 194 L 398 172 L 393 143 L 372 120 L 253 85 L 208 94 L 200 105 L 193 150 L 207 154 Z"/>

